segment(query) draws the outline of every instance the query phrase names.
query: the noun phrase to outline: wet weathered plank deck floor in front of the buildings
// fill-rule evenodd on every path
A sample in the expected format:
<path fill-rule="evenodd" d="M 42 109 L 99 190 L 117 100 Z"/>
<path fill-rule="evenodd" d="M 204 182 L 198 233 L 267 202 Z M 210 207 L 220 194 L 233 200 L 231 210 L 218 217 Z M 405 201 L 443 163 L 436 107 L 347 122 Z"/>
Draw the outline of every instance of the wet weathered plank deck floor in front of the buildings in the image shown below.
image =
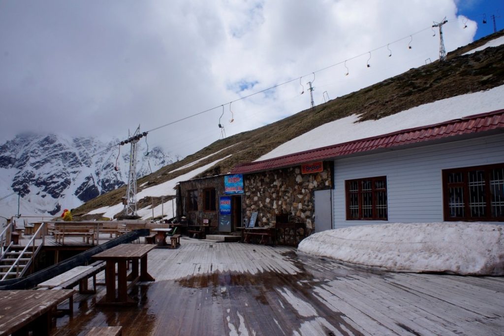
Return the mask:
<path fill-rule="evenodd" d="M 155 249 L 133 307 L 74 296 L 55 335 L 122 326 L 127 335 L 502 335 L 504 277 L 368 271 L 294 248 L 182 238 Z M 100 280 L 103 273 L 98 274 Z"/>

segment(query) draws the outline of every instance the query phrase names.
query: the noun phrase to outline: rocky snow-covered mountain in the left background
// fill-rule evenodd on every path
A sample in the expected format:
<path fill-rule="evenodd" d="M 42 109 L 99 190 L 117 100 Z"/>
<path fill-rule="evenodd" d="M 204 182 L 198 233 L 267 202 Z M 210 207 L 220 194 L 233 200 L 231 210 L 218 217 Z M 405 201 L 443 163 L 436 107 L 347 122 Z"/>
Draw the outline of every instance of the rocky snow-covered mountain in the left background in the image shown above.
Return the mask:
<path fill-rule="evenodd" d="M 19 195 L 21 214 L 58 214 L 128 182 L 130 146 L 95 138 L 22 134 L 0 145 L 0 197 Z M 138 143 L 137 177 L 172 162 L 159 147 Z M 148 152 L 147 152 L 148 150 Z M 116 170 L 115 168 L 118 168 Z M 0 214 L 17 214 L 18 196 L 0 201 Z"/>

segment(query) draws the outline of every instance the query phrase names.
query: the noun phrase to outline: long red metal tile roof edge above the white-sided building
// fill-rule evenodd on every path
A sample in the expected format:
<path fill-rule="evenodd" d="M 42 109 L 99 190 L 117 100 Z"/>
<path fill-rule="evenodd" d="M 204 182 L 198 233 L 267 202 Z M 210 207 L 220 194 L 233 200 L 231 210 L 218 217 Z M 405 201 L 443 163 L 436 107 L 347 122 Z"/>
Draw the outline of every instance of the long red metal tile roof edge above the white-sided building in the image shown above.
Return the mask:
<path fill-rule="evenodd" d="M 446 121 L 439 124 L 421 126 L 380 136 L 349 141 L 337 145 L 321 147 L 263 161 L 239 164 L 232 174 L 247 174 L 288 167 L 312 161 L 333 159 L 369 150 L 403 146 L 423 141 L 441 139 L 456 135 L 504 130 L 504 109 Z"/>

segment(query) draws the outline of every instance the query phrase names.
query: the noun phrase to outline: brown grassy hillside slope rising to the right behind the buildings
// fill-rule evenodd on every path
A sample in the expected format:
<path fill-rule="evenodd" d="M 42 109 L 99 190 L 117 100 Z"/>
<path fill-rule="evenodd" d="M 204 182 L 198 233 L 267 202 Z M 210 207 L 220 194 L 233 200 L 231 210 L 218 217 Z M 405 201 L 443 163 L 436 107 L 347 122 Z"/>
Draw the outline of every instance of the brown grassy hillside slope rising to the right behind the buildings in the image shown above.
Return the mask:
<path fill-rule="evenodd" d="M 504 35 L 504 31 L 458 48 L 448 54 L 448 62 L 433 62 L 420 68 L 411 69 L 404 74 L 318 105 L 314 111 L 307 109 L 256 130 L 218 140 L 183 160 L 167 165 L 140 179 L 138 185 L 145 182 L 148 183 L 144 188 L 157 185 L 192 171 L 198 166 L 208 164 L 217 158 L 233 154 L 199 177 L 226 174 L 239 163 L 254 161 L 280 144 L 342 117 L 358 114 L 361 116 L 361 120 L 380 119 L 421 104 L 502 85 L 504 84 L 504 46 L 487 48 L 462 56 L 462 53 L 500 35 Z M 272 134 L 275 136 L 271 136 Z M 169 173 L 178 167 L 233 144 L 235 145 L 231 148 L 202 160 L 198 165 Z M 125 187 L 108 192 L 75 209 L 74 214 L 84 214 L 105 205 L 120 203 L 124 194 Z M 166 194 L 172 195 L 174 191 L 167 190 Z M 159 201 L 159 199 L 155 200 L 155 204 L 158 204 Z M 139 208 L 150 204 L 150 202 L 150 198 L 139 200 Z"/>

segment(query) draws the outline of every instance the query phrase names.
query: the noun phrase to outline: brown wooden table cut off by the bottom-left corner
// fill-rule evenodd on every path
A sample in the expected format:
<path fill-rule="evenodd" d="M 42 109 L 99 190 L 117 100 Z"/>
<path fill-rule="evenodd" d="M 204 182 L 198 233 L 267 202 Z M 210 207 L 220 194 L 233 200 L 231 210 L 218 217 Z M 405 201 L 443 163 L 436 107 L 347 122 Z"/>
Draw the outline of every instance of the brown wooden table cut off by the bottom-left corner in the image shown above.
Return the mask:
<path fill-rule="evenodd" d="M 52 312 L 57 305 L 70 299 L 73 311 L 74 290 L 0 291 L 0 335 L 48 335 L 52 328 Z"/>

